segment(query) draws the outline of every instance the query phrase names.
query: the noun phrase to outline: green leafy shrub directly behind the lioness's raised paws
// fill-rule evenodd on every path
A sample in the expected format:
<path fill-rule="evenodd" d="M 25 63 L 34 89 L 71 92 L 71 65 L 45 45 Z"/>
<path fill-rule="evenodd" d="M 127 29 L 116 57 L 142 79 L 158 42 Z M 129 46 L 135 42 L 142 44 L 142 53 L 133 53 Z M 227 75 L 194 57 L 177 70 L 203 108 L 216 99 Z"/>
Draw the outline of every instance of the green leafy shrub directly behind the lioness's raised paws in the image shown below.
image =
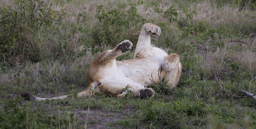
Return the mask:
<path fill-rule="evenodd" d="M 116 46 L 117 43 L 124 39 L 137 42 L 141 26 L 146 22 L 153 22 L 153 19 L 145 19 L 137 12 L 135 5 L 125 9 L 126 6 L 114 8 L 106 11 L 102 5 L 97 6 L 98 13 L 95 15 L 100 22 L 100 26 L 95 29 L 94 44 L 95 46 L 108 45 Z"/>

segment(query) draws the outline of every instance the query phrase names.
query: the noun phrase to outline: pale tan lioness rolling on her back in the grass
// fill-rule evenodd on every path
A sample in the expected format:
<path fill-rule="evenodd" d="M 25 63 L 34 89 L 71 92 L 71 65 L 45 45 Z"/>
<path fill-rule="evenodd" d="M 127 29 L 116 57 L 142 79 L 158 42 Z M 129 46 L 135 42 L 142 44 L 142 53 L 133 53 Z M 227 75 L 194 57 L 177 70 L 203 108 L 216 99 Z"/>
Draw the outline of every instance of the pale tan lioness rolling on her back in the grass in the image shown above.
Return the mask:
<path fill-rule="evenodd" d="M 134 92 L 135 98 L 148 98 L 154 96 L 150 88 L 153 78 L 160 83 L 158 76 L 161 67 L 162 80 L 168 81 L 168 86 L 174 88 L 181 76 L 182 65 L 177 54 L 167 55 L 164 50 L 151 45 L 150 33 L 159 36 L 161 29 L 152 23 L 142 25 L 140 36 L 135 49 L 134 59 L 116 61 L 116 58 L 129 51 L 133 44 L 129 40 L 119 43 L 114 49 L 99 53 L 93 60 L 87 72 L 89 86 L 78 93 L 78 96 L 89 96 L 93 93 L 103 92 L 112 97 L 123 97 L 126 86 Z M 63 99 L 67 95 L 36 100 Z"/>

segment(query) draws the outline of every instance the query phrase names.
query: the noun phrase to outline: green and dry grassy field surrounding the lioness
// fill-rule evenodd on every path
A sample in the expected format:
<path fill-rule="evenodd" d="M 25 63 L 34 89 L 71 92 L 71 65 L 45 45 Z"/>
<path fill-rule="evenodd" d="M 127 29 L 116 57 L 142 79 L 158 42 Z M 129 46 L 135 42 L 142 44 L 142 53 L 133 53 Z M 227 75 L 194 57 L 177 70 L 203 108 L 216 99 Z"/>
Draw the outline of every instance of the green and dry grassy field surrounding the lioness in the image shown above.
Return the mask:
<path fill-rule="evenodd" d="M 0 128 L 256 128 L 256 1 L 0 0 Z M 142 24 L 152 44 L 176 53 L 182 77 L 150 99 L 86 89 L 92 59 Z M 63 100 L 24 100 L 69 94 Z"/>

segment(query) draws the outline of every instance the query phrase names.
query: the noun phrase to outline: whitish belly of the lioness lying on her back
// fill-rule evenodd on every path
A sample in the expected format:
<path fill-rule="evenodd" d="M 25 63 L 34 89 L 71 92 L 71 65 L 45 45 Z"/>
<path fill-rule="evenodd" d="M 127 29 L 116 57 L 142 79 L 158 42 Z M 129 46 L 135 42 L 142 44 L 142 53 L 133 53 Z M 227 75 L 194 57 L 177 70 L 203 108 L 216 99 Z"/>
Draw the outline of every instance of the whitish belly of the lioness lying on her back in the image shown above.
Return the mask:
<path fill-rule="evenodd" d="M 115 80 L 139 83 L 143 86 L 151 86 L 153 79 L 158 81 L 158 70 L 163 63 L 163 55 L 155 55 L 148 58 L 138 58 L 117 61 L 117 71 L 114 75 Z"/>

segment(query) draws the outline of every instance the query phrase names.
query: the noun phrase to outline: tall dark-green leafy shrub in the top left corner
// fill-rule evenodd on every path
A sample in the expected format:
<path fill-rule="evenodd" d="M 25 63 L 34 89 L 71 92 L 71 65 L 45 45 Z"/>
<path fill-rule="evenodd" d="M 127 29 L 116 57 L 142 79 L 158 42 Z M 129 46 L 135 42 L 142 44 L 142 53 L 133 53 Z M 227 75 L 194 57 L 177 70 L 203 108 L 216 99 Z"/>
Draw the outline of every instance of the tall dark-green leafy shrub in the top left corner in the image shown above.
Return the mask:
<path fill-rule="evenodd" d="M 41 0 L 19 1 L 17 7 L 5 5 L 0 9 L 0 61 L 10 64 L 40 57 L 40 43 L 34 34 L 42 25 L 51 26 L 57 11 Z"/>

